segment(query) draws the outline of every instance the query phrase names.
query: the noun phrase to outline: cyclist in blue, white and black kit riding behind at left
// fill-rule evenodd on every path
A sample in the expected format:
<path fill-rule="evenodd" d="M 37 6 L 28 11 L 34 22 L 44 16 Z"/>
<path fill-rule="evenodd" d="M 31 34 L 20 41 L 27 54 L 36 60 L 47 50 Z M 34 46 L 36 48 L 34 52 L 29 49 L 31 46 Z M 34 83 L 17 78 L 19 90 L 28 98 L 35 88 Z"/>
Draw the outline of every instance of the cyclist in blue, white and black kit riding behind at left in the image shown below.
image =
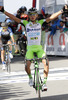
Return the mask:
<path fill-rule="evenodd" d="M 10 27 L 8 27 L 8 24 L 6 22 L 2 22 L 1 23 L 1 29 L 0 29 L 0 40 L 2 41 L 2 44 L 12 44 L 11 42 L 11 39 L 12 39 L 12 42 L 14 44 L 14 37 L 13 37 L 13 32 L 11 30 Z M 12 55 L 12 46 L 10 46 L 10 58 L 12 59 L 13 58 L 13 55 Z M 5 67 L 5 59 L 4 59 L 4 46 L 1 48 L 1 60 L 2 60 L 2 69 L 6 69 Z"/>

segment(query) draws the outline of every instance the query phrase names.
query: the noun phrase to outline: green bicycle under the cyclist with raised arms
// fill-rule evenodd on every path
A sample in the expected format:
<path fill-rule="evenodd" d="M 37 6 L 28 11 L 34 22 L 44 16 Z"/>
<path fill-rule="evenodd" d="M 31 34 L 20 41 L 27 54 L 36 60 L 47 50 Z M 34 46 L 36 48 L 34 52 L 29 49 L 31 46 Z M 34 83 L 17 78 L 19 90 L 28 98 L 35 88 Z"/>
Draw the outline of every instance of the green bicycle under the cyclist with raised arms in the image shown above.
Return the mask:
<path fill-rule="evenodd" d="M 42 85 L 43 85 L 42 78 L 41 78 L 40 72 L 39 72 L 39 62 L 40 62 L 40 60 L 42 60 L 44 58 L 45 57 L 37 58 L 36 53 L 34 53 L 34 59 L 30 59 L 30 61 L 33 61 L 34 69 L 35 69 L 34 70 L 34 85 L 33 85 L 33 88 L 35 88 L 36 93 L 38 92 L 38 99 L 39 100 L 41 100 L 40 90 L 42 91 Z M 47 59 L 47 58 L 45 58 L 45 59 Z M 45 91 L 47 91 L 47 90 L 45 90 Z"/>

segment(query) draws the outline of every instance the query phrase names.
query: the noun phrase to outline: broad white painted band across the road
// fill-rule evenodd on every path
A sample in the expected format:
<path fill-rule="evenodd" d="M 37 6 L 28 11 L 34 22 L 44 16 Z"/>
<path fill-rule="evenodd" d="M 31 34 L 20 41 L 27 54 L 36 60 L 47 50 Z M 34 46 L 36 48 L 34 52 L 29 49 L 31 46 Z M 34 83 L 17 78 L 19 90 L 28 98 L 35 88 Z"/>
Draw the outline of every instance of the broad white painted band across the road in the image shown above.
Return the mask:
<path fill-rule="evenodd" d="M 43 69 L 40 69 L 40 75 L 43 79 Z M 34 76 L 34 70 L 32 70 L 32 76 Z M 55 81 L 55 80 L 68 80 L 68 67 L 49 69 L 48 81 Z M 29 78 L 25 71 L 0 73 L 0 84 L 7 84 L 7 83 L 11 84 L 20 82 L 24 83 L 28 81 Z"/>

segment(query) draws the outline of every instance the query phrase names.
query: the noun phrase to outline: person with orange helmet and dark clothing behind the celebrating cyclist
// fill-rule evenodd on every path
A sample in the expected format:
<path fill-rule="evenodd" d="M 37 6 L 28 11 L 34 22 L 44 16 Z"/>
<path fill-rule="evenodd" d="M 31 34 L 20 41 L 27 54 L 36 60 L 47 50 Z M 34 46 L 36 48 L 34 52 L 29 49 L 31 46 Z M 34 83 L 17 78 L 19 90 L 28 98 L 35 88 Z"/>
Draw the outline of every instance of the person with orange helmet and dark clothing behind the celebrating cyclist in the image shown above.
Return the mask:
<path fill-rule="evenodd" d="M 21 14 L 20 19 L 28 20 L 27 14 Z M 26 32 L 25 32 L 25 26 L 24 24 L 18 24 L 17 30 L 15 31 L 15 34 L 17 35 L 16 38 L 16 44 L 19 45 L 20 53 L 22 56 L 25 56 L 26 53 Z"/>

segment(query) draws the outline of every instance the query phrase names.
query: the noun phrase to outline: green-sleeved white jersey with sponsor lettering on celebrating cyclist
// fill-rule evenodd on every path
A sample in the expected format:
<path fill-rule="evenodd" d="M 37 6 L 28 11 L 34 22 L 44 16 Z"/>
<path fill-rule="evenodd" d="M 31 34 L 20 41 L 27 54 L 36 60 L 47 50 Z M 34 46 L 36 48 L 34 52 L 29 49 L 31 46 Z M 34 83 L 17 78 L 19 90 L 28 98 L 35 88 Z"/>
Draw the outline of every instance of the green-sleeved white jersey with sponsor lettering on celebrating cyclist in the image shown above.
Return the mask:
<path fill-rule="evenodd" d="M 28 46 L 41 45 L 41 26 L 44 21 L 46 20 L 42 19 L 33 24 L 31 21 L 28 22 L 26 20 L 21 20 L 21 23 L 23 23 L 26 27 Z"/>

